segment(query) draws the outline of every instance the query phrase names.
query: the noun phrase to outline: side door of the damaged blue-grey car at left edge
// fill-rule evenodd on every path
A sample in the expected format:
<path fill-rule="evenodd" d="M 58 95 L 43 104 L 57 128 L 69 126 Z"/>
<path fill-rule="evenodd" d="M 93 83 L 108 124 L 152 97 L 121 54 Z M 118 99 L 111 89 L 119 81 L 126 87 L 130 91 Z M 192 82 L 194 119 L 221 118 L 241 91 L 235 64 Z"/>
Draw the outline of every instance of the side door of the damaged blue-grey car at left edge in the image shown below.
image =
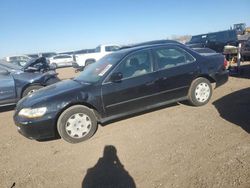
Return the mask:
<path fill-rule="evenodd" d="M 0 105 L 15 103 L 15 81 L 10 73 L 0 67 Z"/>

